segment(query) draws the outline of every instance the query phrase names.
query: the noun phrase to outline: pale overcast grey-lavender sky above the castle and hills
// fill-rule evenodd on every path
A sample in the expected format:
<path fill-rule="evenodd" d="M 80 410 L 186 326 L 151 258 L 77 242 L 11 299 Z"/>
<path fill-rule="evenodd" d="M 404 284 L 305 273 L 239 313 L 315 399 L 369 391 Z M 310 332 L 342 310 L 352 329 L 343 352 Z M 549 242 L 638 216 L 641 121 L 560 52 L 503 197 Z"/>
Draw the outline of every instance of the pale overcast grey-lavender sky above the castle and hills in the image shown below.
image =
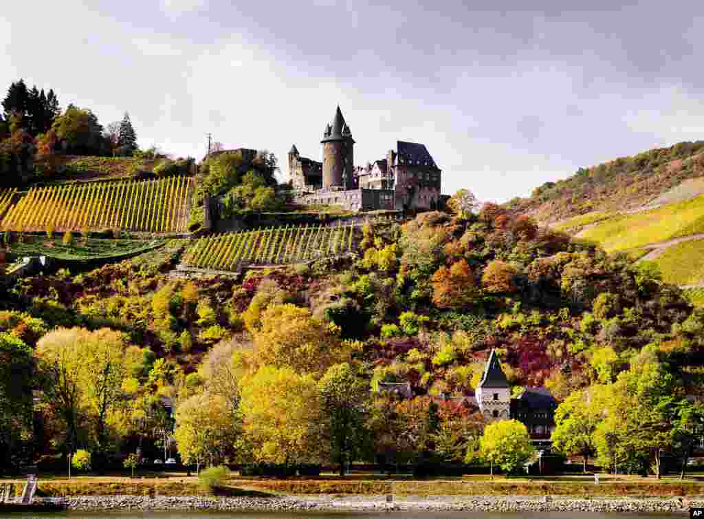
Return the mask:
<path fill-rule="evenodd" d="M 1 90 L 20 77 L 53 87 L 103 126 L 127 110 L 141 147 L 175 156 L 201 159 L 210 132 L 270 149 L 286 172 L 294 143 L 320 159 L 339 104 L 356 164 L 422 142 L 444 193 L 503 201 L 704 139 L 700 0 L 42 0 L 1 12 Z"/>

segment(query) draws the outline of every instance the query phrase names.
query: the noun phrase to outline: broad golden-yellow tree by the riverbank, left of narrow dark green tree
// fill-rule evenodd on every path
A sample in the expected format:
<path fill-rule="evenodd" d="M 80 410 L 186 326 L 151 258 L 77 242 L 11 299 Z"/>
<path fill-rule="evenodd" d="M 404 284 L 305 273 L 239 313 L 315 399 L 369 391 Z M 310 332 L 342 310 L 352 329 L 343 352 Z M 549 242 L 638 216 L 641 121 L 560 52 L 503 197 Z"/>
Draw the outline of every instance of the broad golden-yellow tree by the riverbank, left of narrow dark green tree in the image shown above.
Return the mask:
<path fill-rule="evenodd" d="M 259 461 L 293 463 L 320 458 L 321 407 L 309 374 L 263 366 L 244 377 L 240 409 L 244 436 Z"/>

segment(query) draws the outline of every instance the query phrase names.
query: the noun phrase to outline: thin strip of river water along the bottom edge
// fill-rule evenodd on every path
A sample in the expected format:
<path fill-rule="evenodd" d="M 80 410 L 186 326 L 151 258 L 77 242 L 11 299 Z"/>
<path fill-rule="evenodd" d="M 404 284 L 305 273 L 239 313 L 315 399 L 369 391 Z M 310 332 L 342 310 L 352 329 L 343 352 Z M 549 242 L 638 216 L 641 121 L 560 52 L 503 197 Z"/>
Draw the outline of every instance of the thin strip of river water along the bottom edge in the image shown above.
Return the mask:
<path fill-rule="evenodd" d="M 630 514 L 630 513 L 481 513 L 481 512 L 375 512 L 375 513 L 320 513 L 320 512 L 79 512 L 1 513 L 0 519 L 670 519 L 688 517 L 688 514 Z"/>

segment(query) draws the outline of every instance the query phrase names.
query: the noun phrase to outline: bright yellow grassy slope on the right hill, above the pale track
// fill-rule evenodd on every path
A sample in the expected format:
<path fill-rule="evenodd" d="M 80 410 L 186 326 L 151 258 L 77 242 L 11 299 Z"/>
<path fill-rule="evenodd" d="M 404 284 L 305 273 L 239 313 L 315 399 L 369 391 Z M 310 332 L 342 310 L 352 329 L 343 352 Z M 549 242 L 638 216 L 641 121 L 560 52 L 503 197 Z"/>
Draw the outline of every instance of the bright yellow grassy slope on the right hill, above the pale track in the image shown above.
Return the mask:
<path fill-rule="evenodd" d="M 607 252 L 615 252 L 702 232 L 704 196 L 650 211 L 614 216 L 587 229 L 580 238 L 599 243 Z"/>

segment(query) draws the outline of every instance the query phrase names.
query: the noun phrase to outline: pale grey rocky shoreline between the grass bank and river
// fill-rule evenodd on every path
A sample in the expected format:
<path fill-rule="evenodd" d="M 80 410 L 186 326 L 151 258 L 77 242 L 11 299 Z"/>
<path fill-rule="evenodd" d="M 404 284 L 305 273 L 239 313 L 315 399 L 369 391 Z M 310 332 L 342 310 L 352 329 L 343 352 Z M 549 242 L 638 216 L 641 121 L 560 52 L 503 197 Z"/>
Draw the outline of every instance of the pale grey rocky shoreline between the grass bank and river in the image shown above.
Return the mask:
<path fill-rule="evenodd" d="M 72 496 L 38 498 L 38 505 L 70 510 L 202 510 L 202 511 L 448 511 L 448 512 L 572 512 L 572 513 L 687 513 L 704 506 L 704 499 L 593 498 L 551 496 Z"/>

